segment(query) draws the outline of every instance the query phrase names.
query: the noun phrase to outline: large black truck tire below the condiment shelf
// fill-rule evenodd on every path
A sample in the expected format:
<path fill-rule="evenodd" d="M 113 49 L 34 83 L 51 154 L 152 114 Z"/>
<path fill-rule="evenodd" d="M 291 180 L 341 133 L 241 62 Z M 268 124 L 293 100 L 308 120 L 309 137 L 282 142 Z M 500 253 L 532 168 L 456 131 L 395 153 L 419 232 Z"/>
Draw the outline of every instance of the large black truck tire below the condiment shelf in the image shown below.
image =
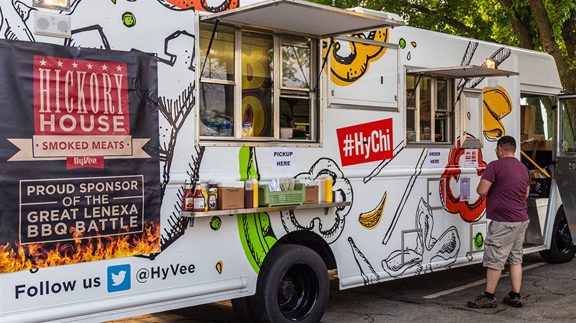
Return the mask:
<path fill-rule="evenodd" d="M 257 322 L 319 322 L 330 294 L 328 270 L 314 250 L 274 246 L 266 255 L 252 298 Z"/>

